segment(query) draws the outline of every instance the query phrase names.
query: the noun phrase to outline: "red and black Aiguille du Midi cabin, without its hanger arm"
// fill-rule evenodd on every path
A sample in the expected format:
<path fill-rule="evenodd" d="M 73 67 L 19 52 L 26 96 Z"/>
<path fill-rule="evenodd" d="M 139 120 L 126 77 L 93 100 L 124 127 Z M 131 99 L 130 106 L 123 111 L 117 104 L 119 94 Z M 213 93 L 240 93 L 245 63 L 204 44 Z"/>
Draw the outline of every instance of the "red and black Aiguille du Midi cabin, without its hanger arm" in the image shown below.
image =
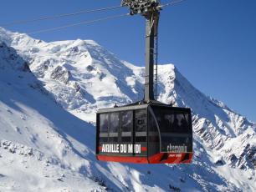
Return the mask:
<path fill-rule="evenodd" d="M 97 113 L 99 160 L 137 164 L 188 164 L 192 161 L 190 109 L 152 102 Z"/>

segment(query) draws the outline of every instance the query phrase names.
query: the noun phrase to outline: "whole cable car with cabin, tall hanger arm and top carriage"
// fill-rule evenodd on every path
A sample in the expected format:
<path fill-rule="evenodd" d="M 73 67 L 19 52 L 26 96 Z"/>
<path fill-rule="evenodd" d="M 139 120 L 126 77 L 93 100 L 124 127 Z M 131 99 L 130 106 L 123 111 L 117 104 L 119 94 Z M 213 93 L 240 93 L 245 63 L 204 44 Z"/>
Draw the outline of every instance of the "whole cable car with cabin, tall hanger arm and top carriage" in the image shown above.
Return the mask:
<path fill-rule="evenodd" d="M 145 98 L 135 104 L 100 109 L 96 114 L 96 158 L 136 164 L 192 162 L 191 109 L 154 98 L 155 40 L 161 6 L 158 0 L 123 0 L 131 15 L 146 17 Z"/>

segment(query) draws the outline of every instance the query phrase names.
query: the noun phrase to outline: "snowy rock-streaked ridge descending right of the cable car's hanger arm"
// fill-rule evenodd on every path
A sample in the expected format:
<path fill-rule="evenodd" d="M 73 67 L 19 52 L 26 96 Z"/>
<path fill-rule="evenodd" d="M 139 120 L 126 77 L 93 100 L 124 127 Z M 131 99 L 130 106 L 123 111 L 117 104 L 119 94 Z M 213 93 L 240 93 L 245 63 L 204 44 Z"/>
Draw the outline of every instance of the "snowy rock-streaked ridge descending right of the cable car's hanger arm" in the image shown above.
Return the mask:
<path fill-rule="evenodd" d="M 173 65 L 160 66 L 159 74 L 161 102 L 191 108 L 194 132 L 212 153 L 230 166 L 255 169 L 256 124 L 201 93 Z"/>

